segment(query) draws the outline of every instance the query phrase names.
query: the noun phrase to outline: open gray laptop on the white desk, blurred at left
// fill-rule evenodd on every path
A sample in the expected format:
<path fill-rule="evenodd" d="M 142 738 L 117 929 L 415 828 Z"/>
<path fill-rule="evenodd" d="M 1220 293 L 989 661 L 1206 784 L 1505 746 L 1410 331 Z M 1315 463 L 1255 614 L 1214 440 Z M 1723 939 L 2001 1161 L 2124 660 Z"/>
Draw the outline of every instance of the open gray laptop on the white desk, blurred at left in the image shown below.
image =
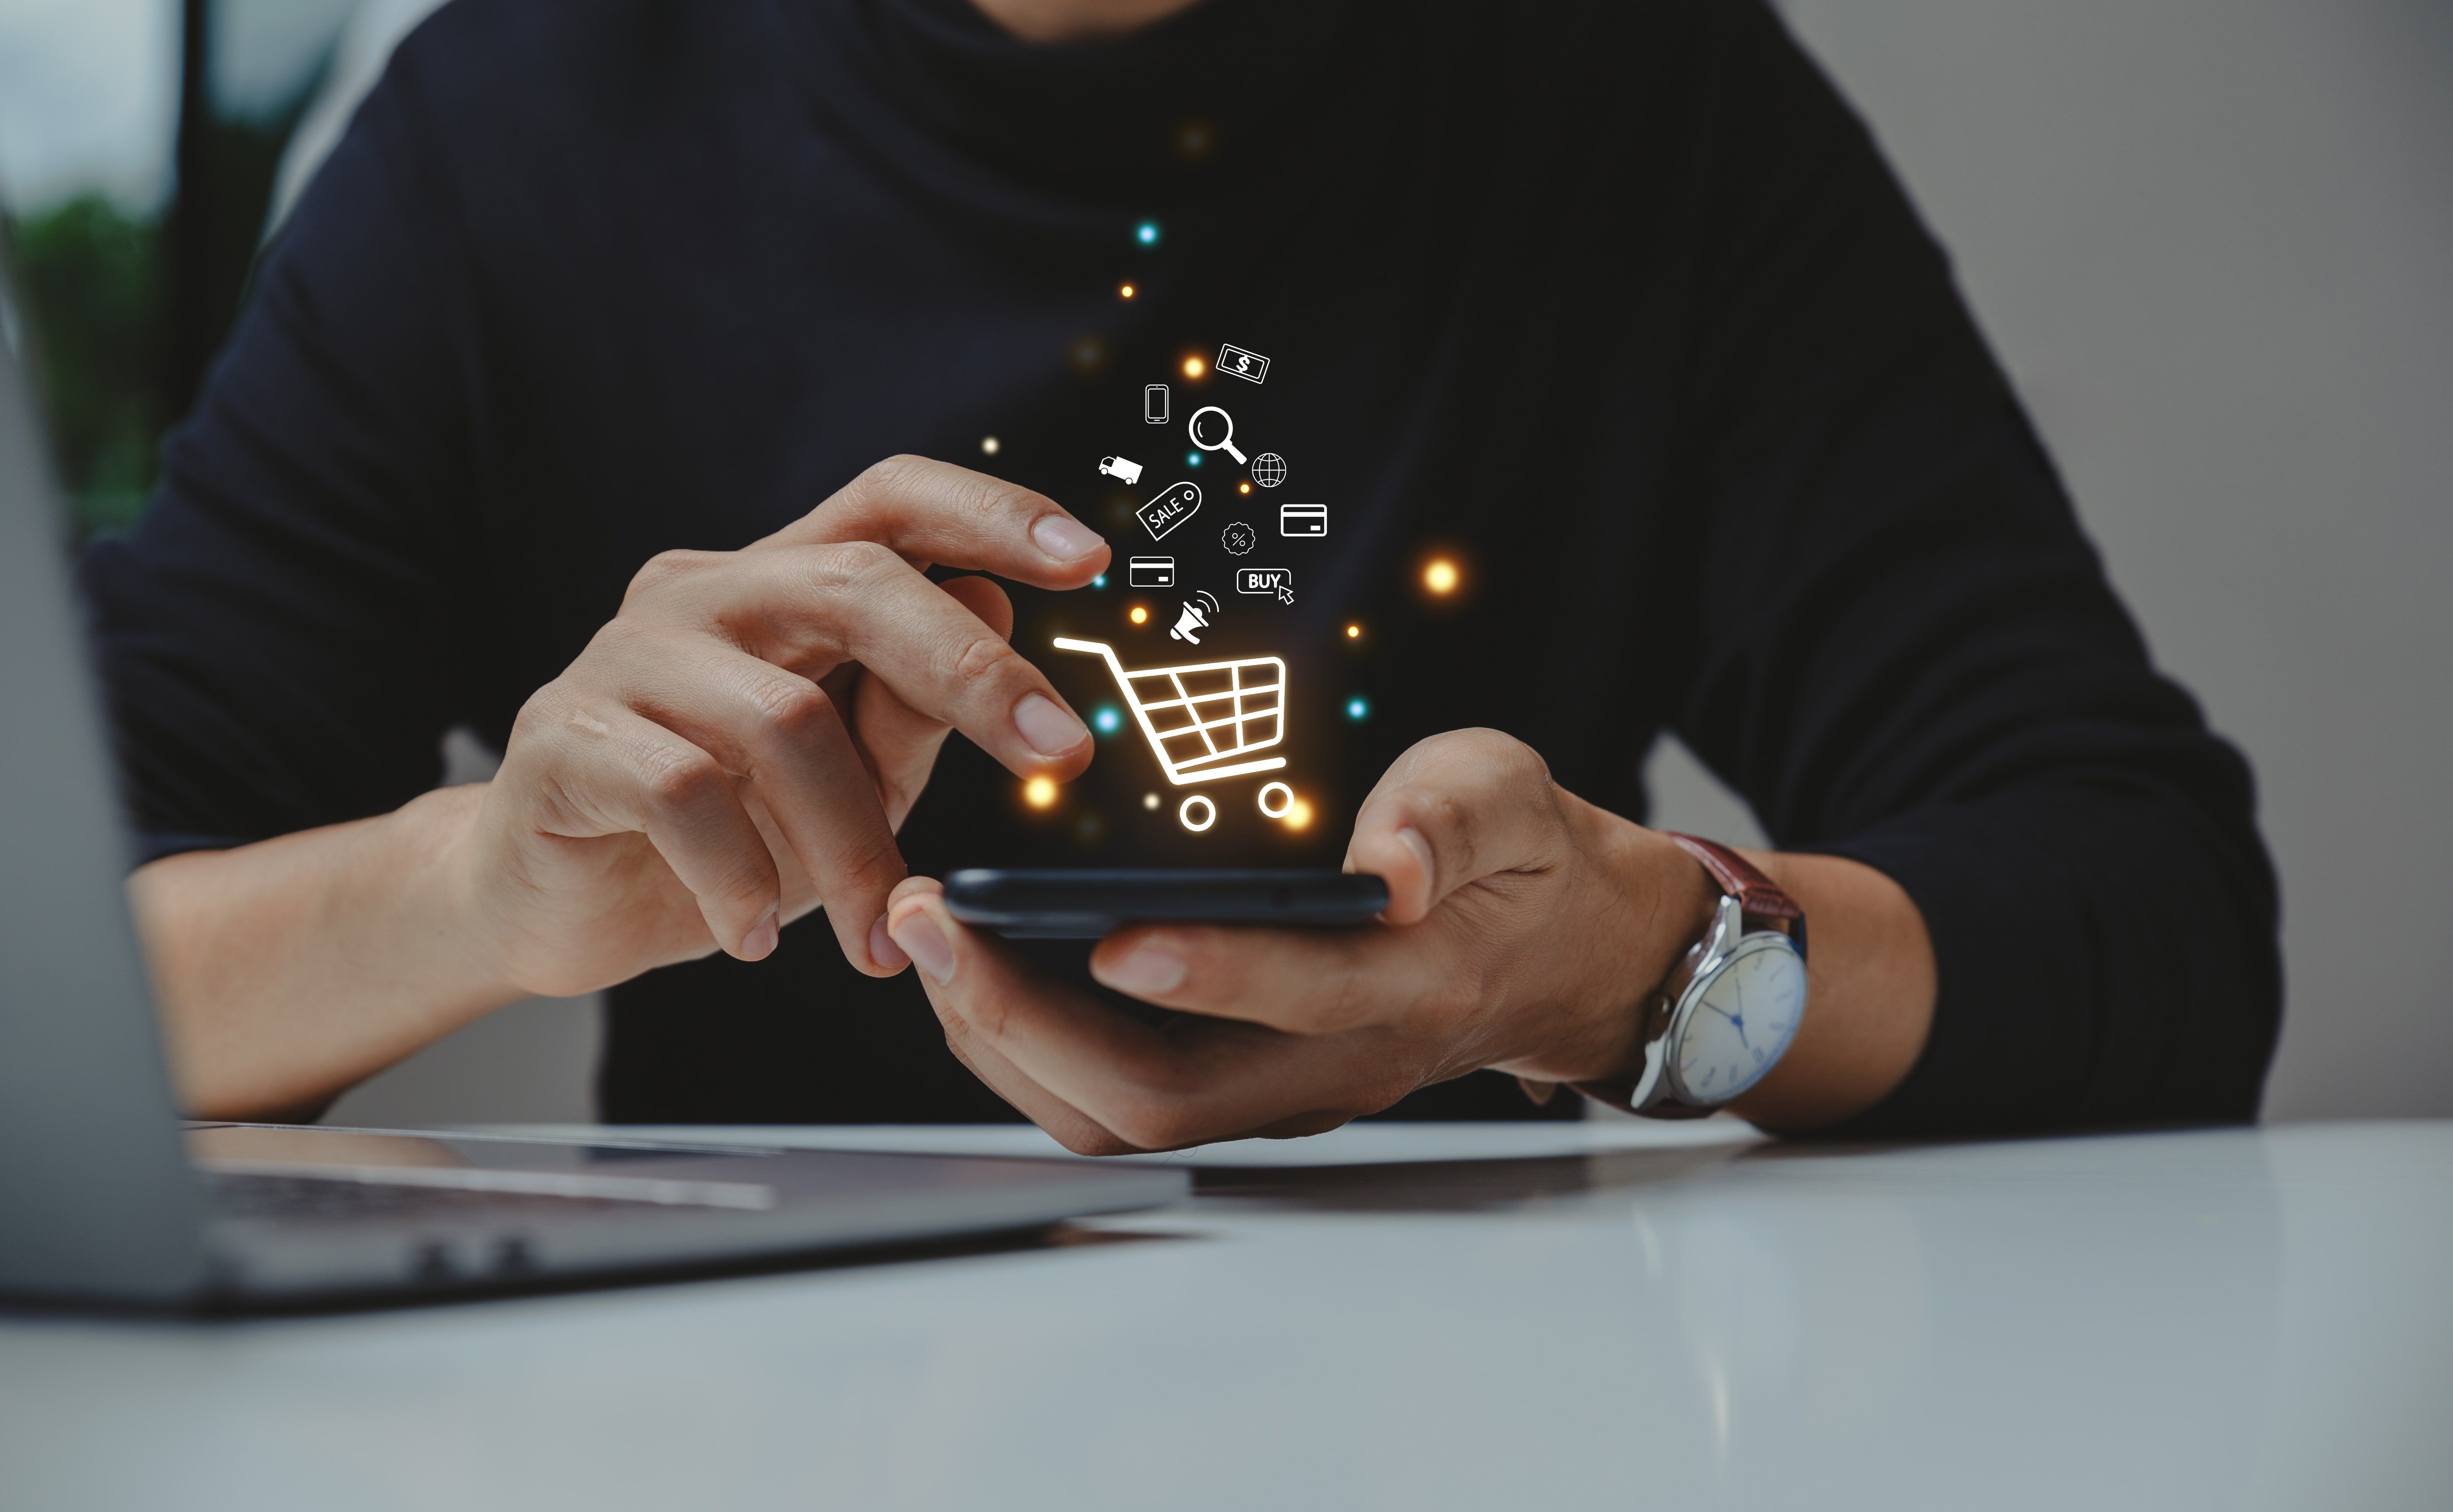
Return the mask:
<path fill-rule="evenodd" d="M 0 279 L 0 1294 L 260 1309 L 1028 1230 L 1173 1169 L 182 1125 L 128 838 Z"/>

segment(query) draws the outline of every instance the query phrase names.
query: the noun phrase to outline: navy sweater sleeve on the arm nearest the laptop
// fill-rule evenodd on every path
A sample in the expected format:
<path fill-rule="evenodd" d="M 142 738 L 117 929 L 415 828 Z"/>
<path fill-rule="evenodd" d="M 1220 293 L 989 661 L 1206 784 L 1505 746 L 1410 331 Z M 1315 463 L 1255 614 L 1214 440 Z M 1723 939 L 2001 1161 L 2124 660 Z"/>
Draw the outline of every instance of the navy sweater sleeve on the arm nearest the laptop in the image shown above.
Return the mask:
<path fill-rule="evenodd" d="M 397 74 L 397 66 L 395 66 Z M 137 529 L 86 551 L 140 855 L 434 784 L 471 591 L 466 279 L 388 78 L 324 164 Z"/>

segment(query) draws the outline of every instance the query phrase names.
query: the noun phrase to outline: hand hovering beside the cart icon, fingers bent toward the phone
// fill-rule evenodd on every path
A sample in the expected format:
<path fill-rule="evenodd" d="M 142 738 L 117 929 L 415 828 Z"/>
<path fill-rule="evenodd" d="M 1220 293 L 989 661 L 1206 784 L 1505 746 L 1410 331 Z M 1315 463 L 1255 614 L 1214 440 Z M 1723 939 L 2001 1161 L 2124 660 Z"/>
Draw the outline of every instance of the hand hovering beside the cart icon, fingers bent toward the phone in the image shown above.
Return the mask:
<path fill-rule="evenodd" d="M 724 948 L 758 961 L 824 907 L 890 975 L 895 831 L 947 730 L 1016 774 L 1074 777 L 1092 738 L 1006 637 L 989 578 L 1079 588 L 1106 542 L 1052 500 L 890 458 L 741 551 L 667 551 L 513 725 L 449 870 L 520 992 L 574 995 Z"/>

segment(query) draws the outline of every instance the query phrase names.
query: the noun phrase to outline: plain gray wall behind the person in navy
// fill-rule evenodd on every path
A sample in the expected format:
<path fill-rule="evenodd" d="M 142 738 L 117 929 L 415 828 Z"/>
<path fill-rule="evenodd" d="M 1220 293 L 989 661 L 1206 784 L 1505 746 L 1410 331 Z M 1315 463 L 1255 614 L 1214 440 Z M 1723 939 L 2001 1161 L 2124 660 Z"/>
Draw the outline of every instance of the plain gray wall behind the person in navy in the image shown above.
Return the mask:
<path fill-rule="evenodd" d="M 2453 2 L 1786 0 L 1957 257 L 2161 667 L 2257 765 L 2271 1117 L 2453 1113 Z M 1675 745 L 1658 821 L 1751 838 Z M 569 1117 L 522 1005 L 336 1117 Z"/>

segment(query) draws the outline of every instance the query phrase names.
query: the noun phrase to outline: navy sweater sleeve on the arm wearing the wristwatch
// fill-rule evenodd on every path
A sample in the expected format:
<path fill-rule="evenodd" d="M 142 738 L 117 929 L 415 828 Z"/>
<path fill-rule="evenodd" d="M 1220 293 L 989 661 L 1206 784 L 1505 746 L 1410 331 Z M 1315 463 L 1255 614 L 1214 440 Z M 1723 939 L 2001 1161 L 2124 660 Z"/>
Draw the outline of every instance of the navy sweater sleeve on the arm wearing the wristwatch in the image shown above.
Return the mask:
<path fill-rule="evenodd" d="M 1778 845 L 1899 880 L 1940 970 L 1921 1061 L 1840 1132 L 2254 1117 L 2249 769 L 2149 664 L 1864 127 L 1769 12 L 1710 10 L 1675 725 Z"/>

